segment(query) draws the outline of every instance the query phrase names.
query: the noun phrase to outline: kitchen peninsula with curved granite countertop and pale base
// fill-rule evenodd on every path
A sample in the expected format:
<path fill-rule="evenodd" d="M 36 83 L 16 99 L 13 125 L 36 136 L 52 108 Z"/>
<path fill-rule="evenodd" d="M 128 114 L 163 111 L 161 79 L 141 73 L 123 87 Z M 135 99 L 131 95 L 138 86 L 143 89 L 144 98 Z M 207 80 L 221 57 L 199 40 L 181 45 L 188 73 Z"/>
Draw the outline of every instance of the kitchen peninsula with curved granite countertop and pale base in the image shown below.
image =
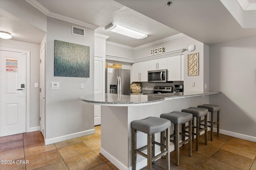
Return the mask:
<path fill-rule="evenodd" d="M 208 95 L 220 92 L 179 92 L 148 95 L 95 94 L 81 96 L 86 104 L 101 105 L 101 148 L 103 154 L 120 170 L 132 167 L 131 122 L 162 113 L 181 111 L 189 107 L 209 104 Z M 171 133 L 172 127 L 171 127 Z M 160 142 L 160 134 L 156 134 Z M 147 135 L 138 131 L 137 147 L 146 145 Z M 171 146 L 174 150 L 174 146 Z M 160 147 L 156 147 L 156 154 Z M 137 155 L 137 169 L 147 165 L 147 160 Z"/>

